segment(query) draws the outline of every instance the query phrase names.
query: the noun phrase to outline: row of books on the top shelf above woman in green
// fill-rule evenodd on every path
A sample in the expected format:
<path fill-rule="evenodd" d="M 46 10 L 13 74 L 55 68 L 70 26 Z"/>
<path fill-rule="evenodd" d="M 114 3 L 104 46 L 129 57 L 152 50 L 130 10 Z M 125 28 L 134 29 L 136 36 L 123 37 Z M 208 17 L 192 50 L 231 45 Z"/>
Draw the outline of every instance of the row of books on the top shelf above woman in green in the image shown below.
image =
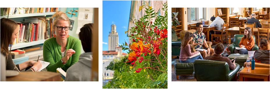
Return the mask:
<path fill-rule="evenodd" d="M 56 12 L 58 8 L 1 8 L 1 15 Z"/>

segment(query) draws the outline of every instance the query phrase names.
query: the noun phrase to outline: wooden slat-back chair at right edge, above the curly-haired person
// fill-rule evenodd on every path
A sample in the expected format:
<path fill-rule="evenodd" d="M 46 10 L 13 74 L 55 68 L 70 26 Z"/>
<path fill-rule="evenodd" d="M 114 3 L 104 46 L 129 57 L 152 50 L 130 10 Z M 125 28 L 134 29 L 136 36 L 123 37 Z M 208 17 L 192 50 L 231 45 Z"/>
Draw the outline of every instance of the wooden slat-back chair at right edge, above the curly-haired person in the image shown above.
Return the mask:
<path fill-rule="evenodd" d="M 257 43 L 258 45 L 260 43 L 260 39 L 266 39 L 269 42 L 269 28 L 258 30 L 258 43 Z M 259 49 L 260 49 L 260 47 L 259 47 Z"/>

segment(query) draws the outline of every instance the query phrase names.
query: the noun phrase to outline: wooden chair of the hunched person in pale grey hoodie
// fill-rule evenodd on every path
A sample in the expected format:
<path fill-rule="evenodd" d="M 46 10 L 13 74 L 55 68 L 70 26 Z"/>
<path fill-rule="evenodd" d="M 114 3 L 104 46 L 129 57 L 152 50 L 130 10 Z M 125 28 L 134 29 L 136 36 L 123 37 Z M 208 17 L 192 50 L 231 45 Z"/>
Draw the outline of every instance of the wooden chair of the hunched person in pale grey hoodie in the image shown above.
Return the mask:
<path fill-rule="evenodd" d="M 216 42 L 212 42 L 213 44 L 218 44 L 218 43 L 222 43 L 223 44 L 223 37 L 224 36 L 226 38 L 226 41 L 224 41 L 224 42 L 226 44 L 228 44 L 228 41 L 227 41 L 227 31 L 225 31 L 225 29 L 228 29 L 228 23 L 227 24 L 223 23 L 222 30 L 213 30 L 214 31 L 214 34 L 211 34 L 211 39 L 213 40 L 213 36 L 214 37 L 219 37 L 219 39 L 216 39 Z M 216 34 L 216 31 L 221 32 L 221 34 Z M 225 34 L 223 34 L 224 32 L 225 32 Z"/>

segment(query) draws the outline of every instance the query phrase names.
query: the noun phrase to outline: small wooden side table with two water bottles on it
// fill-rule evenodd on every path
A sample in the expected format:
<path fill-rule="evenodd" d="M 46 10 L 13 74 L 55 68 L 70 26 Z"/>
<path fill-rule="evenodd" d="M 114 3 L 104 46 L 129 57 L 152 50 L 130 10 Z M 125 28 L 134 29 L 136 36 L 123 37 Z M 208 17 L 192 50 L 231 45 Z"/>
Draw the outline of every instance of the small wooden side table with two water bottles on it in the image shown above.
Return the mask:
<path fill-rule="evenodd" d="M 240 81 L 243 81 L 245 78 L 257 78 L 257 79 L 264 79 L 264 81 L 270 80 L 270 68 L 266 67 L 255 67 L 254 70 L 251 70 L 251 67 L 247 68 L 244 67 L 243 70 L 239 72 L 240 74 Z M 247 81 L 245 79 L 245 81 Z"/>

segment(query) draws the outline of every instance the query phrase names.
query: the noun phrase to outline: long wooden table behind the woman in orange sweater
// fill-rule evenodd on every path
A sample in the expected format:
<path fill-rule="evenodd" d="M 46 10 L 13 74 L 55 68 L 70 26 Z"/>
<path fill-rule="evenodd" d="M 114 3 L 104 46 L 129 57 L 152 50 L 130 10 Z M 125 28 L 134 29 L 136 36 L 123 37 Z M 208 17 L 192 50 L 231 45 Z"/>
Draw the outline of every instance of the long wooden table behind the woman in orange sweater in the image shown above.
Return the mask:
<path fill-rule="evenodd" d="M 244 27 L 240 27 L 240 28 L 245 29 Z M 260 29 L 262 29 L 262 28 L 259 28 L 259 30 Z M 228 38 L 231 38 L 231 34 L 239 34 L 239 27 L 232 27 L 232 28 L 229 28 L 229 29 L 225 29 L 225 31 L 227 31 L 227 33 L 228 33 Z M 258 34 L 258 29 L 254 28 L 253 33 L 255 35 L 257 35 Z M 254 34 L 252 34 L 252 35 L 254 35 Z M 257 41 L 257 40 L 255 40 L 255 41 Z M 228 40 L 228 47 L 229 47 L 230 44 L 231 44 L 231 40 Z"/>

